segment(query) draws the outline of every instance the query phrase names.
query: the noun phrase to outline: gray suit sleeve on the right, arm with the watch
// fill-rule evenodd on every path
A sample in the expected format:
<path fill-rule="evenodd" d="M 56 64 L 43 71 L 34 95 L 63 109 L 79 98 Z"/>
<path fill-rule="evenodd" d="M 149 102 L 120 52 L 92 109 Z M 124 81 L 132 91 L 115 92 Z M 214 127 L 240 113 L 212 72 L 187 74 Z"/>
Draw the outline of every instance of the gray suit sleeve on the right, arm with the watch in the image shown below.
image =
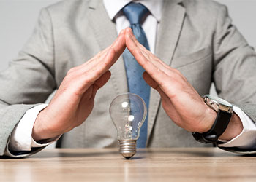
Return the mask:
<path fill-rule="evenodd" d="M 256 122 L 256 53 L 232 25 L 225 6 L 217 13 L 214 61 L 213 79 L 219 97 L 241 108 Z M 256 149 L 222 149 L 256 153 Z"/>

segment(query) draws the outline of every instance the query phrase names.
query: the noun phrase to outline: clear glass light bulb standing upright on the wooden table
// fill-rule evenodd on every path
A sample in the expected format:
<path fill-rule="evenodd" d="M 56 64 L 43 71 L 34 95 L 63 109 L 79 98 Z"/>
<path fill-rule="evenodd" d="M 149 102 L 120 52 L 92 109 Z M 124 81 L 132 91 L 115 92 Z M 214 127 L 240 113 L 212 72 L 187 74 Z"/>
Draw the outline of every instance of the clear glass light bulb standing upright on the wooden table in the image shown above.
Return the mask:
<path fill-rule="evenodd" d="M 136 153 L 140 127 L 146 119 L 146 103 L 138 95 L 124 93 L 113 99 L 109 111 L 116 126 L 120 154 L 130 159 Z"/>

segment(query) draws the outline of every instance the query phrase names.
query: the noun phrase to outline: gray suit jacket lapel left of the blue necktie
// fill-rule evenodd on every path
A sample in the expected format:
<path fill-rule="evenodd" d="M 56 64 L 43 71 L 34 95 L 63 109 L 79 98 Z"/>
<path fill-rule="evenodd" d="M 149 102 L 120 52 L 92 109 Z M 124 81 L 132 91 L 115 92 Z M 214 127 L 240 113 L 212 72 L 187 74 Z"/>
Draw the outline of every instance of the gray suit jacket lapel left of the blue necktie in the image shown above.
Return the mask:
<path fill-rule="evenodd" d="M 89 21 L 94 29 L 95 38 L 100 49 L 104 50 L 117 38 L 116 24 L 108 17 L 102 1 L 90 1 L 89 10 L 91 11 Z M 113 91 L 116 92 L 116 95 L 128 92 L 127 76 L 122 56 L 110 68 L 110 71 L 110 82 L 113 82 Z"/>

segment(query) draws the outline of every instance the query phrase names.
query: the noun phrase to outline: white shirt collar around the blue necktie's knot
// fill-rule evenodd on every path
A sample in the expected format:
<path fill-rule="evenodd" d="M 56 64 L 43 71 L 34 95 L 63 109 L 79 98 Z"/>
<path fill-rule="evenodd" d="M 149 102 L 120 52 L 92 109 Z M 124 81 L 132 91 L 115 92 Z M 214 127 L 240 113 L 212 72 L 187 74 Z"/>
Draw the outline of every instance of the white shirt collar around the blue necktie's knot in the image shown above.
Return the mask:
<path fill-rule="evenodd" d="M 113 20 L 118 12 L 131 1 L 140 2 L 148 8 L 151 15 L 153 15 L 158 22 L 161 20 L 163 0 L 103 0 L 110 20 Z"/>

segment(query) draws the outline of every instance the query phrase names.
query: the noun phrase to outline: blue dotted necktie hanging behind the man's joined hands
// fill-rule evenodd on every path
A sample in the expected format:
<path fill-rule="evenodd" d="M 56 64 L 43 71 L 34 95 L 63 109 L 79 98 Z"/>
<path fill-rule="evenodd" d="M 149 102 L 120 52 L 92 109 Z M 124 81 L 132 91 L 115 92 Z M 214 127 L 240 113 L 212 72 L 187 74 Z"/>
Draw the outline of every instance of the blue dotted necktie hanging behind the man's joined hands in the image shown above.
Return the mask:
<path fill-rule="evenodd" d="M 143 4 L 137 4 L 137 3 L 131 2 L 127 4 L 127 6 L 125 6 L 122 9 L 122 11 L 124 15 L 127 17 L 127 19 L 129 20 L 129 23 L 131 24 L 131 28 L 136 39 L 138 39 L 140 44 L 143 44 L 143 46 L 149 50 L 146 34 L 140 25 L 143 18 L 145 18 L 146 15 L 148 15 L 149 13 L 148 9 L 144 7 Z M 142 76 L 145 70 L 138 64 L 138 62 L 135 60 L 135 58 L 129 52 L 129 50 L 126 49 L 124 51 L 123 57 L 124 57 L 124 64 L 127 72 L 127 82 L 128 82 L 129 92 L 135 93 L 139 95 L 141 98 L 143 98 L 148 108 L 150 87 L 144 81 Z M 138 138 L 138 141 L 137 141 L 138 148 L 146 147 L 147 129 L 148 129 L 148 116 L 146 117 L 146 120 L 143 126 L 140 128 L 140 138 Z"/>

